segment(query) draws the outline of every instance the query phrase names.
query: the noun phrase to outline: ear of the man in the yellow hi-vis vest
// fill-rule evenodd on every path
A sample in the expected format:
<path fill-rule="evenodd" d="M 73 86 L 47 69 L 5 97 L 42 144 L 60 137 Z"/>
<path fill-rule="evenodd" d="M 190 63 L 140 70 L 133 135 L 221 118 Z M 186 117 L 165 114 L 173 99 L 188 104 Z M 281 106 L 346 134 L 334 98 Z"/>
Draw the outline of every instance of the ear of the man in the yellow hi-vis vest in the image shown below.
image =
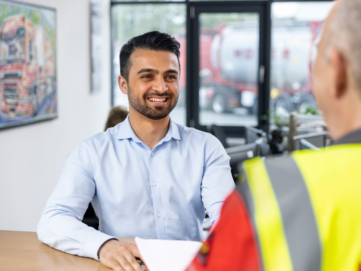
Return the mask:
<path fill-rule="evenodd" d="M 331 49 L 330 64 L 334 73 L 335 96 L 340 98 L 347 89 L 347 65 L 341 53 L 334 48 Z"/>

